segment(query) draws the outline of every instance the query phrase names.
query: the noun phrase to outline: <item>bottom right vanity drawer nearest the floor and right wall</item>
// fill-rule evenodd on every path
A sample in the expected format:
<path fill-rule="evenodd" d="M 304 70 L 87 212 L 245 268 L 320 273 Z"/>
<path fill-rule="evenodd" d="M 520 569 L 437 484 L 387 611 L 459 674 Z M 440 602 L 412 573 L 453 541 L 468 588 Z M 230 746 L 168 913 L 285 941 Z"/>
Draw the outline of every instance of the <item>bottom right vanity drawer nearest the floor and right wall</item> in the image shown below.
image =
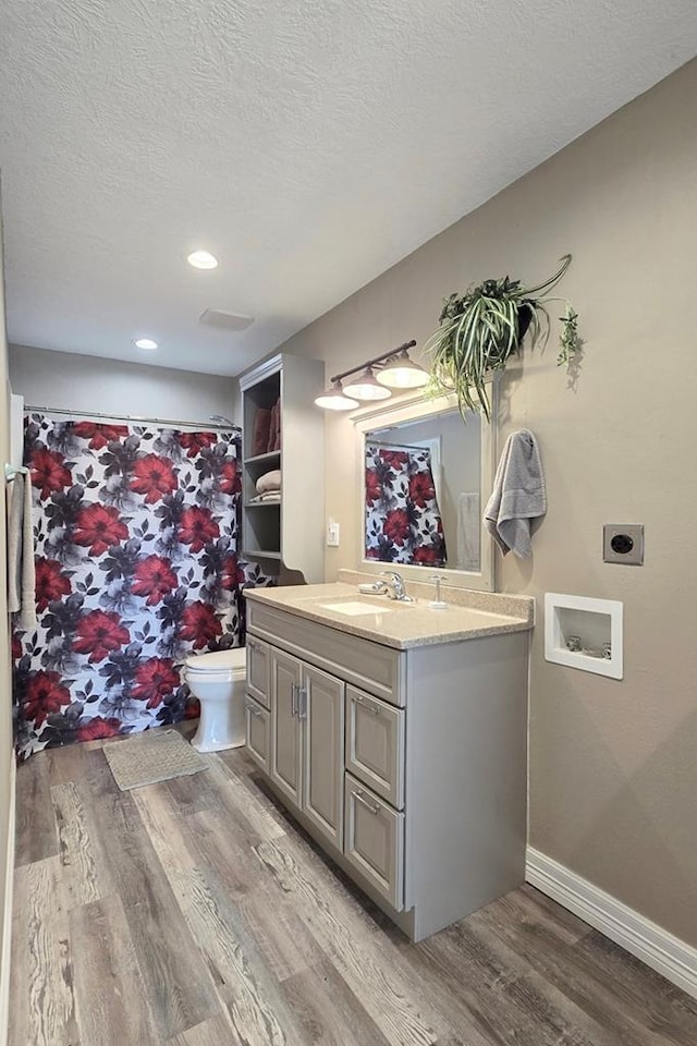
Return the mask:
<path fill-rule="evenodd" d="M 404 814 L 346 774 L 344 855 L 398 912 L 404 907 Z"/>

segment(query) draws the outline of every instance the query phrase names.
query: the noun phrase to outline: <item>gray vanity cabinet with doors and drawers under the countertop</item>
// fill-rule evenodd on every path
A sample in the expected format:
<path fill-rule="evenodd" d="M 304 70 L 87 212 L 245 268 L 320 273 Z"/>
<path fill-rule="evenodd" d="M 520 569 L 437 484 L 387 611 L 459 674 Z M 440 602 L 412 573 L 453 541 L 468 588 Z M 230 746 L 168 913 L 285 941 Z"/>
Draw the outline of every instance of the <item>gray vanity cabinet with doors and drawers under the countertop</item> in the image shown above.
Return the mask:
<path fill-rule="evenodd" d="M 246 700 L 268 758 L 258 715 L 247 744 L 301 824 L 413 940 L 519 886 L 527 632 L 395 649 L 266 596 L 247 605 L 266 704 Z"/>

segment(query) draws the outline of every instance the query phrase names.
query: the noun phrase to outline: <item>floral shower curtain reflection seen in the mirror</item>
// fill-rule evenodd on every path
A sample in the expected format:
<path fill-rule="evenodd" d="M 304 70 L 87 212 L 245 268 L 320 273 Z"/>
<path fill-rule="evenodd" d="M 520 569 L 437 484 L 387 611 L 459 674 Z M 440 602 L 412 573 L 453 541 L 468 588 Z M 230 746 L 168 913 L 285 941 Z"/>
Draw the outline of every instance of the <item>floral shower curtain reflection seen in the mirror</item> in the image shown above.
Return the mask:
<path fill-rule="evenodd" d="M 426 449 L 366 447 L 366 557 L 443 567 L 443 523 Z"/>

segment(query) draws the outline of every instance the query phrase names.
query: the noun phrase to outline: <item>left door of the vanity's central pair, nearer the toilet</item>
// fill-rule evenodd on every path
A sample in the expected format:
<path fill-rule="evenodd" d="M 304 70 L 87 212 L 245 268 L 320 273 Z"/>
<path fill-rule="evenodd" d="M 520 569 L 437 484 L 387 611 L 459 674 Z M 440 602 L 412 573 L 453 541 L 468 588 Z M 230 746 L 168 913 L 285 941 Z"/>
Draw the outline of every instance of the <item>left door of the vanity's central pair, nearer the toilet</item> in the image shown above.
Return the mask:
<path fill-rule="evenodd" d="M 302 662 L 271 649 L 271 767 L 273 781 L 296 806 L 303 803 L 303 734 L 297 716 Z"/>

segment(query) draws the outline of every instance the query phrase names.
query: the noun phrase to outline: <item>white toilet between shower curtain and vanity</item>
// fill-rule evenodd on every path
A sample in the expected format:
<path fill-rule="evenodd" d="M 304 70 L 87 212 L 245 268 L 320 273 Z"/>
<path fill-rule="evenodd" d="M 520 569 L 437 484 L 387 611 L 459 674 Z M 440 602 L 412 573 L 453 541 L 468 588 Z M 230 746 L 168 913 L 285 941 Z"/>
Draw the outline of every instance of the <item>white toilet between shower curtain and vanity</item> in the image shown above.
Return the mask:
<path fill-rule="evenodd" d="M 193 746 L 198 752 L 222 752 L 244 744 L 245 647 L 187 657 L 184 677 L 200 702 Z"/>

